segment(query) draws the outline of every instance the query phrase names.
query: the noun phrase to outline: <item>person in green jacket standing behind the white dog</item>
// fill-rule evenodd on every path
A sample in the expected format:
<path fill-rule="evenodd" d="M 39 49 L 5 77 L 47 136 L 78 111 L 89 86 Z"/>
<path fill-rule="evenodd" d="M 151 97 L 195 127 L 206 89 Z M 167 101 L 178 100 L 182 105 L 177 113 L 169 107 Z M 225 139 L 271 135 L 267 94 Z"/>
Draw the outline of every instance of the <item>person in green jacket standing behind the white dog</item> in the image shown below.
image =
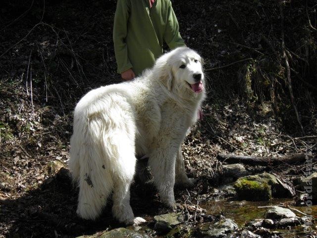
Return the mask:
<path fill-rule="evenodd" d="M 186 46 L 170 0 L 117 0 L 113 44 L 123 80 L 152 67 L 164 42 L 171 50 Z"/>

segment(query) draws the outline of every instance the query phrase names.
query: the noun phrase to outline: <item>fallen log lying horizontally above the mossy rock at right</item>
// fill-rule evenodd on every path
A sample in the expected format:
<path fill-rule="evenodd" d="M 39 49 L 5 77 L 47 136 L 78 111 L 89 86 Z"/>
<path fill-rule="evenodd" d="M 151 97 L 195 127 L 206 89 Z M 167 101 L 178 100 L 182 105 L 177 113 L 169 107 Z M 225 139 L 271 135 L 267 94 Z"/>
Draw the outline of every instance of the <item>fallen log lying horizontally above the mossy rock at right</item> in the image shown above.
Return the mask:
<path fill-rule="evenodd" d="M 246 165 L 263 165 L 272 166 L 278 164 L 295 164 L 303 162 L 306 159 L 305 154 L 293 154 L 281 157 L 273 156 L 245 156 L 245 155 L 232 155 L 232 154 L 218 154 L 217 159 L 221 162 L 226 162 L 228 164 L 246 164 Z"/>

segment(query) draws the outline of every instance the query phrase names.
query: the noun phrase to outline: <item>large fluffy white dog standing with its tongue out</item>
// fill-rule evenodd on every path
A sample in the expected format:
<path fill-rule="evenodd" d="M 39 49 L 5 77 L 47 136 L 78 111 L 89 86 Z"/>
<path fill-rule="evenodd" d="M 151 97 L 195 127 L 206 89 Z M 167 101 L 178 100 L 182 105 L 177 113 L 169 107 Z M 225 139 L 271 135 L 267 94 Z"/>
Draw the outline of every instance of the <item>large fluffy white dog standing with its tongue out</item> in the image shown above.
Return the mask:
<path fill-rule="evenodd" d="M 192 185 L 181 143 L 205 98 L 202 59 L 189 48 L 161 56 L 133 81 L 87 93 L 74 112 L 69 168 L 79 186 L 77 213 L 95 219 L 113 191 L 112 214 L 144 222 L 130 206 L 136 155 L 147 155 L 160 198 L 175 208 L 174 183 Z"/>

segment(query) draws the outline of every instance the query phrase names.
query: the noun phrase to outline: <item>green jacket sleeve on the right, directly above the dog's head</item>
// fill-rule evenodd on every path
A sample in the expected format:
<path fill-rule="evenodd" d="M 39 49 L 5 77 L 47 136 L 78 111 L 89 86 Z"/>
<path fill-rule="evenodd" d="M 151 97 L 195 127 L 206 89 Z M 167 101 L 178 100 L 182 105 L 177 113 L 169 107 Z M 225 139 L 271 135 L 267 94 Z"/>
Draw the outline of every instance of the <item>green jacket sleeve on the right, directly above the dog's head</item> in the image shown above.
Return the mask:
<path fill-rule="evenodd" d="M 164 41 L 171 50 L 177 47 L 186 46 L 184 40 L 179 34 L 178 21 L 170 0 L 167 9 L 167 21 L 164 32 Z"/>

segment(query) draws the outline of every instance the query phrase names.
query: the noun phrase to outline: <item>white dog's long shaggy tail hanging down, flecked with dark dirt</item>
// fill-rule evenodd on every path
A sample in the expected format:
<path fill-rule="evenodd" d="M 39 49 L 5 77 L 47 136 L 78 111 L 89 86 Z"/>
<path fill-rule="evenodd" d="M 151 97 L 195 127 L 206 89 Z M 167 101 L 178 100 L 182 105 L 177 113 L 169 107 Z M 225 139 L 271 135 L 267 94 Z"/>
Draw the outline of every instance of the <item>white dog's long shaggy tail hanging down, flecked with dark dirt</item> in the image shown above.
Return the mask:
<path fill-rule="evenodd" d="M 68 166 L 79 187 L 77 214 L 84 219 L 96 219 L 113 190 L 111 152 L 106 151 L 104 135 L 102 119 L 75 114 Z"/>

